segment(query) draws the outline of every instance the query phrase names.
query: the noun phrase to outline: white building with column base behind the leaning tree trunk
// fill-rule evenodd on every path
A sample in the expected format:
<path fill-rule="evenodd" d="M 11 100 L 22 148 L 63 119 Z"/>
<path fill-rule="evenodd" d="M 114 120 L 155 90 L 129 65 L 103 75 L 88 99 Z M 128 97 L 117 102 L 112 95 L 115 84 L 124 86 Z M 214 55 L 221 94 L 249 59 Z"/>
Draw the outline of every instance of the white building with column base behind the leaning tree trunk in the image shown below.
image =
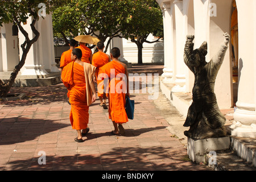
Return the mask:
<path fill-rule="evenodd" d="M 30 39 L 33 36 L 30 28 L 31 18 L 23 25 Z M 20 46 L 24 43 L 24 36 L 21 32 L 13 35 L 13 24 L 3 24 L 0 29 L 0 76 L 2 80 L 8 80 L 15 65 L 19 63 L 19 56 L 22 55 Z M 49 85 L 59 82 L 60 71 L 56 67 L 55 53 L 53 46 L 52 16 L 39 18 L 35 24 L 39 31 L 39 39 L 32 44 L 28 52 L 25 64 L 18 73 L 14 85 L 16 86 L 37 86 Z"/>

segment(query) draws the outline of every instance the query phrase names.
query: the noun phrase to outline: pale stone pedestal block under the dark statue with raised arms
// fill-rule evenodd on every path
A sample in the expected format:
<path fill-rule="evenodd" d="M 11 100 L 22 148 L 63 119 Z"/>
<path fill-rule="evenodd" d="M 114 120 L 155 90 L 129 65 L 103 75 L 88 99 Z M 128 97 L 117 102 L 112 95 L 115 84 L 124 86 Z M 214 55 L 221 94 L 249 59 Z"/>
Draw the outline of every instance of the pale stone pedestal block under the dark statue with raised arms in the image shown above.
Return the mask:
<path fill-rule="evenodd" d="M 212 151 L 230 148 L 230 137 L 192 139 L 188 138 L 188 156 L 196 163 L 205 162 L 205 156 Z M 216 154 L 216 153 L 215 153 Z"/>

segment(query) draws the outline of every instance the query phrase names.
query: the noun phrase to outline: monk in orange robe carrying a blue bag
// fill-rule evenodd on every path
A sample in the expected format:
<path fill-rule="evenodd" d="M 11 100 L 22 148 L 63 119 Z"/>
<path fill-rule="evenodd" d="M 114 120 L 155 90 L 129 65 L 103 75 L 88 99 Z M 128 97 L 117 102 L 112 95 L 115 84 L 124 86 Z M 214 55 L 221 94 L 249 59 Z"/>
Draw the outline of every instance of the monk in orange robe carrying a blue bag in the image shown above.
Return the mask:
<path fill-rule="evenodd" d="M 109 118 L 112 119 L 114 125 L 113 134 L 125 134 L 122 126 L 123 123 L 128 121 L 125 111 L 125 97 L 130 97 L 127 66 L 118 60 L 119 56 L 119 48 L 112 48 L 110 51 L 112 61 L 102 66 L 98 74 L 98 77 L 110 78 L 108 94 Z"/>

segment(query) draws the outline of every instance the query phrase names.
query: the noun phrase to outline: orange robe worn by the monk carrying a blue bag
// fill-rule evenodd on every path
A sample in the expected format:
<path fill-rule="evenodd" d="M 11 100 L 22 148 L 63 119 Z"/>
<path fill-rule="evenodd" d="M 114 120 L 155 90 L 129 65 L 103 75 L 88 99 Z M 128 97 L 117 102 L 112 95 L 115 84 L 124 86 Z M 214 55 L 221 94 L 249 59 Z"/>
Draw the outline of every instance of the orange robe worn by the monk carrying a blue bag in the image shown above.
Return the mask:
<path fill-rule="evenodd" d="M 114 75 L 110 77 L 110 72 L 113 73 L 113 71 Z M 101 73 L 105 73 L 110 78 L 109 119 L 112 119 L 115 123 L 126 123 L 128 121 L 125 111 L 126 81 L 122 79 L 125 75 L 125 67 L 113 60 L 100 68 L 99 74 Z"/>

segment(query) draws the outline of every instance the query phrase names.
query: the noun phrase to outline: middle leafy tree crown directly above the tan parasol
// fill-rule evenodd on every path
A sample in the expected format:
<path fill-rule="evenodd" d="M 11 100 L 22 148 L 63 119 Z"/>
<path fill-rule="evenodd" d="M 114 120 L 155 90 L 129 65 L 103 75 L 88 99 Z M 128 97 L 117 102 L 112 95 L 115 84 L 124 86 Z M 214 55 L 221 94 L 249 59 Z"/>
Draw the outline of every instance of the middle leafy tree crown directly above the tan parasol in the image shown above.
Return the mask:
<path fill-rule="evenodd" d="M 81 29 L 87 28 L 88 34 L 97 36 L 102 42 L 109 38 L 106 50 L 110 41 L 120 35 L 123 22 L 129 19 L 130 8 L 130 1 L 82 0 L 84 28 Z"/>

